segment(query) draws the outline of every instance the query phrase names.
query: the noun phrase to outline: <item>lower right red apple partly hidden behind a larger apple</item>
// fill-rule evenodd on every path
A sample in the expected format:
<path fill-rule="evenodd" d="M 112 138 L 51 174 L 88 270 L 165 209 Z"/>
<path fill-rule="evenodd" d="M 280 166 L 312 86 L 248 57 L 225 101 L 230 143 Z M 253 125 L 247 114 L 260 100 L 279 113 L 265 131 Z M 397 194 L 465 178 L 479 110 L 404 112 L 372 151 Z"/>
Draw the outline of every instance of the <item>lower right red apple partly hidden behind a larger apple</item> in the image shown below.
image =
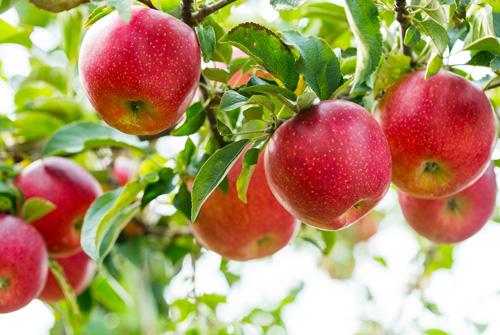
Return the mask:
<path fill-rule="evenodd" d="M 399 191 L 408 224 L 436 243 L 457 243 L 477 233 L 495 212 L 497 184 L 493 164 L 471 186 L 446 198 L 422 199 Z"/>

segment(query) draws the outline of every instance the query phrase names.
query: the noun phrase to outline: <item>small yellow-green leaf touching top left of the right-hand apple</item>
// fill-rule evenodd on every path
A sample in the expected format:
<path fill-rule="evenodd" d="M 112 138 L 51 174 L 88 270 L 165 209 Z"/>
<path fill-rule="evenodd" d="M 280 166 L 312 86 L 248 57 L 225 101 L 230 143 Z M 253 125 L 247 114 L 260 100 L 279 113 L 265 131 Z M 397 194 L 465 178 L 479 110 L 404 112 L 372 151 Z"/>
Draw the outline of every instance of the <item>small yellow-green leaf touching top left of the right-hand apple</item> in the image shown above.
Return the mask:
<path fill-rule="evenodd" d="M 411 58 L 405 55 L 389 55 L 383 61 L 373 85 L 374 95 L 387 90 L 396 80 L 410 72 Z"/>

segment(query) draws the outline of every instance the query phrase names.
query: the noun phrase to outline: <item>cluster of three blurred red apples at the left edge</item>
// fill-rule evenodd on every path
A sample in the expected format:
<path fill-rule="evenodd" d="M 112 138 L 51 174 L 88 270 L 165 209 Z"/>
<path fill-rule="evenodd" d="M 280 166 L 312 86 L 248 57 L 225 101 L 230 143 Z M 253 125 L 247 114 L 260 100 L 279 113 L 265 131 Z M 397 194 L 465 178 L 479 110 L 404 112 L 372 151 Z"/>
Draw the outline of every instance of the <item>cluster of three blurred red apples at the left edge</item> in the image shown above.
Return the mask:
<path fill-rule="evenodd" d="M 92 202 L 102 194 L 97 180 L 77 163 L 62 157 L 38 160 L 16 179 L 25 199 L 50 201 L 56 207 L 31 224 L 0 215 L 0 313 L 33 299 L 54 303 L 65 298 L 49 271 L 56 259 L 76 294 L 90 284 L 95 262 L 81 249 L 80 229 Z"/>

